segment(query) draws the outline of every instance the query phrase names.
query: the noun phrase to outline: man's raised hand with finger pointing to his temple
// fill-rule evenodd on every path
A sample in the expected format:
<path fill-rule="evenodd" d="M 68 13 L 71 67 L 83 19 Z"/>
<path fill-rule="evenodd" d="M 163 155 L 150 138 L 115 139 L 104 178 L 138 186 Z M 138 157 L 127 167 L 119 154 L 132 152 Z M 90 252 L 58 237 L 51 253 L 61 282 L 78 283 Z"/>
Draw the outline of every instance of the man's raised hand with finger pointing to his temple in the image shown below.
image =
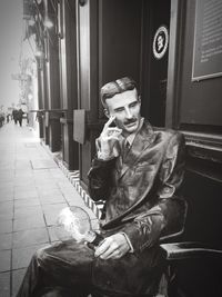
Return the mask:
<path fill-rule="evenodd" d="M 100 137 L 97 139 L 98 157 L 101 159 L 109 159 L 118 156 L 118 150 L 114 145 L 119 141 L 119 136 L 122 130 L 117 127 L 110 127 L 115 117 L 110 117 Z"/>

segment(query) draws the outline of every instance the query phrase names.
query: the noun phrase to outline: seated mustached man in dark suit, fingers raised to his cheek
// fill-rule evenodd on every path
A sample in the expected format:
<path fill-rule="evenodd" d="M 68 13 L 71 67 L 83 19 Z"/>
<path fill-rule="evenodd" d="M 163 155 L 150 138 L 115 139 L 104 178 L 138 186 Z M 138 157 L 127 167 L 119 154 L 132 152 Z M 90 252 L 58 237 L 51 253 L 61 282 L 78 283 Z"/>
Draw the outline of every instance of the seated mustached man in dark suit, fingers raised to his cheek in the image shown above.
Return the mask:
<path fill-rule="evenodd" d="M 164 269 L 159 239 L 176 230 L 183 211 L 184 138 L 140 116 L 138 88 L 128 77 L 104 85 L 101 100 L 109 120 L 95 141 L 89 194 L 105 201 L 104 239 L 94 250 L 74 240 L 38 250 L 18 297 L 157 293 Z M 47 294 L 50 288 L 57 294 Z"/>

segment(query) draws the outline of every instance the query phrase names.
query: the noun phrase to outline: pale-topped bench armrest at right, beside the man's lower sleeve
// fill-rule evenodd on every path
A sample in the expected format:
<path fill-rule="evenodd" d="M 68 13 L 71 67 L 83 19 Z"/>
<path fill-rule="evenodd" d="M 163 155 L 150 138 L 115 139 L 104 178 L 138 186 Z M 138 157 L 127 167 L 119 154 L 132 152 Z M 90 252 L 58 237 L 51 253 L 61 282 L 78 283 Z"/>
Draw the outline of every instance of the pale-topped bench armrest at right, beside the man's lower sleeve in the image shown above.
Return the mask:
<path fill-rule="evenodd" d="M 210 247 L 201 242 L 175 242 L 160 245 L 167 260 L 181 260 L 200 257 L 222 257 L 222 249 Z"/>

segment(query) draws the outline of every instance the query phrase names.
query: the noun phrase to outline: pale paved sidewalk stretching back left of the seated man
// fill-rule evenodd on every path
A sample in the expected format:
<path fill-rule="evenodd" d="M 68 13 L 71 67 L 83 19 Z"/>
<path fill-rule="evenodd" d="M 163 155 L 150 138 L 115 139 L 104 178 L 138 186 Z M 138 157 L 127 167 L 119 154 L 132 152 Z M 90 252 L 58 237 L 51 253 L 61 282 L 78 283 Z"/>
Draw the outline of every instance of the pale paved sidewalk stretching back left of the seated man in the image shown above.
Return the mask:
<path fill-rule="evenodd" d="M 73 205 L 84 201 L 33 132 L 0 128 L 0 297 L 16 295 L 32 254 L 57 240 L 59 211 Z"/>

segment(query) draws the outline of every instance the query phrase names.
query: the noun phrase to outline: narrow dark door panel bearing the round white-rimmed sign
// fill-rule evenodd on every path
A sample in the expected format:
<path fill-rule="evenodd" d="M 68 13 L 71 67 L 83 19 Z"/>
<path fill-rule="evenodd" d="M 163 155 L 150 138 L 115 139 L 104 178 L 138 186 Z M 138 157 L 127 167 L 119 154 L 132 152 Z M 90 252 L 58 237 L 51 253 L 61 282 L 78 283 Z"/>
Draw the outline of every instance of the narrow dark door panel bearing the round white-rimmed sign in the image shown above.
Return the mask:
<path fill-rule="evenodd" d="M 170 0 L 144 1 L 142 115 L 153 126 L 165 125 Z"/>

